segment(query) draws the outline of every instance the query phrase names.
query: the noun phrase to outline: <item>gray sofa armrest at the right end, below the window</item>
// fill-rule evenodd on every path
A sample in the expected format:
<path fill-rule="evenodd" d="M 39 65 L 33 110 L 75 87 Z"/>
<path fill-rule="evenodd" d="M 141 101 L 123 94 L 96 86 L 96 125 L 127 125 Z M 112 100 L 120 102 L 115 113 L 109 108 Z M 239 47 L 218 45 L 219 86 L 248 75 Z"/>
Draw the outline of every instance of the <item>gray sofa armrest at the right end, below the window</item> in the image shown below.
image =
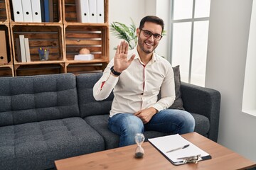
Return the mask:
<path fill-rule="evenodd" d="M 217 142 L 220 118 L 220 92 L 181 82 L 183 107 L 190 113 L 206 116 L 210 121 L 208 138 Z"/>

